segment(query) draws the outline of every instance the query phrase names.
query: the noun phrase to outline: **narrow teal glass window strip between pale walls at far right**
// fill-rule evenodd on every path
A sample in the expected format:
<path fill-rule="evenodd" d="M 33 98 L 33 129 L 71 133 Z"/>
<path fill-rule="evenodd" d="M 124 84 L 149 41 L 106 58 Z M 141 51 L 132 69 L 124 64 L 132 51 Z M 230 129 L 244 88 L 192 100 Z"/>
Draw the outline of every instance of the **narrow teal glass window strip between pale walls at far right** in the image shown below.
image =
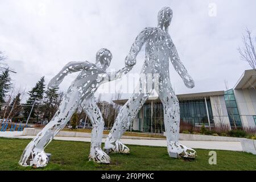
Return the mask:
<path fill-rule="evenodd" d="M 232 127 L 242 127 L 241 118 L 237 109 L 236 98 L 233 89 L 227 90 L 224 94 L 226 109 L 229 114 L 229 122 Z"/>

